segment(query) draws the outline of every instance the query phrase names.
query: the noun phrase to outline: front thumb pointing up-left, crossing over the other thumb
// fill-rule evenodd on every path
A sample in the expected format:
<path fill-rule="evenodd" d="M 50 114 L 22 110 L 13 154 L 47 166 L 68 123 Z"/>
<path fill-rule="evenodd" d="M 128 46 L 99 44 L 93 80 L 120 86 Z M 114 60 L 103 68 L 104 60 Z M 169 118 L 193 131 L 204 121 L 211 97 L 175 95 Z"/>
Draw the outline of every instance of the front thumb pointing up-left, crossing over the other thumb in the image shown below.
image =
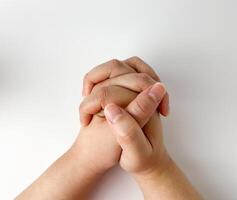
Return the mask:
<path fill-rule="evenodd" d="M 141 156 L 147 156 L 152 151 L 139 124 L 124 109 L 116 104 L 108 104 L 104 113 L 127 159 L 138 161 Z"/>

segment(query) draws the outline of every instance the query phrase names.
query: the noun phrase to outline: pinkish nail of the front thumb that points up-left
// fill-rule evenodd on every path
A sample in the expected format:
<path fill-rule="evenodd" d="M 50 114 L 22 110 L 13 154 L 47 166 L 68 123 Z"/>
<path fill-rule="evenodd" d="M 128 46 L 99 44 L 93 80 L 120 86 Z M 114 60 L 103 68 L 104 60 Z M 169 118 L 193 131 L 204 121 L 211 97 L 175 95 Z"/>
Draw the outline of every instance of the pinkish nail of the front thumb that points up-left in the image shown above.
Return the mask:
<path fill-rule="evenodd" d="M 122 115 L 122 110 L 115 104 L 108 104 L 104 109 L 106 119 L 111 123 L 115 123 L 116 120 Z"/>

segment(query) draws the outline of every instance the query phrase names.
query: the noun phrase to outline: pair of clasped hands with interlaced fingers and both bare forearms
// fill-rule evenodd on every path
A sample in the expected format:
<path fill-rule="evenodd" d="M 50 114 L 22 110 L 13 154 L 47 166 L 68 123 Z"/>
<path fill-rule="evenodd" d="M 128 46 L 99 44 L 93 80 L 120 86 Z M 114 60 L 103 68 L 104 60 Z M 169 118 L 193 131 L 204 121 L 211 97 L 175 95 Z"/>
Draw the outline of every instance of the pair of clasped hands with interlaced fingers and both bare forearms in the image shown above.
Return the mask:
<path fill-rule="evenodd" d="M 168 94 L 157 81 L 136 57 L 89 72 L 78 138 L 16 199 L 88 199 L 94 184 L 117 163 L 135 178 L 145 199 L 201 199 L 163 144 L 156 110 L 168 114 Z"/>

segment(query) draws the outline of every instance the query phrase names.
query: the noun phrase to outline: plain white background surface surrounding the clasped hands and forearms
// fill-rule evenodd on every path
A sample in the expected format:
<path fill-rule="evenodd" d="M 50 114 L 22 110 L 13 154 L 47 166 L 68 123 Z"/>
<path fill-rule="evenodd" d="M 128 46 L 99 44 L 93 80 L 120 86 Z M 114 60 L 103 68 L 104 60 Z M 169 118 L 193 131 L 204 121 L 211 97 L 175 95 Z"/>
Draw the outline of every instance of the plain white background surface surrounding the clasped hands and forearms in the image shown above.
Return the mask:
<path fill-rule="evenodd" d="M 206 199 L 237 199 L 237 2 L 0 0 L 0 199 L 72 144 L 83 75 L 137 55 L 170 93 L 172 157 Z M 142 199 L 119 168 L 95 200 Z"/>

